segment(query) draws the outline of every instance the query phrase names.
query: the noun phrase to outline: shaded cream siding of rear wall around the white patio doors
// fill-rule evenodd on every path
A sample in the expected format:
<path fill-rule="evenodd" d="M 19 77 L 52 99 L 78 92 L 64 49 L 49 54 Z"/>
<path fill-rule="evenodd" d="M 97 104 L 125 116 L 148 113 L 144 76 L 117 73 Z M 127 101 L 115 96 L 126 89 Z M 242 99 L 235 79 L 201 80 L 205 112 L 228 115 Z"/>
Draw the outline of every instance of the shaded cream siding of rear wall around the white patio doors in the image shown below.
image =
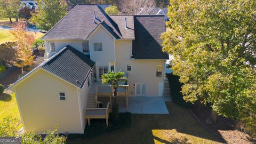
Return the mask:
<path fill-rule="evenodd" d="M 132 60 L 131 40 L 116 41 L 116 70 L 128 73 L 129 95 L 134 95 L 135 83 L 146 83 L 147 96 L 159 96 L 159 83 L 164 81 L 164 68 L 166 60 Z M 127 71 L 127 65 L 132 65 L 132 70 Z M 156 65 L 163 65 L 162 77 L 156 77 Z"/>

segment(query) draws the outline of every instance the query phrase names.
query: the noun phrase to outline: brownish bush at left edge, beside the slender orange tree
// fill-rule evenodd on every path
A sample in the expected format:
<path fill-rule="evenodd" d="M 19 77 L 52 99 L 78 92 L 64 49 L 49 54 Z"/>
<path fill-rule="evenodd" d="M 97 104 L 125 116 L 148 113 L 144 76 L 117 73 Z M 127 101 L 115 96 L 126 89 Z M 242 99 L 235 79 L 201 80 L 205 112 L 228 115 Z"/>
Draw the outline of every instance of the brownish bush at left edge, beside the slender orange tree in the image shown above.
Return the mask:
<path fill-rule="evenodd" d="M 6 63 L 13 65 L 17 54 L 16 48 L 17 44 L 15 42 L 7 42 L 0 45 L 0 60 L 5 65 L 5 68 L 7 68 Z"/>

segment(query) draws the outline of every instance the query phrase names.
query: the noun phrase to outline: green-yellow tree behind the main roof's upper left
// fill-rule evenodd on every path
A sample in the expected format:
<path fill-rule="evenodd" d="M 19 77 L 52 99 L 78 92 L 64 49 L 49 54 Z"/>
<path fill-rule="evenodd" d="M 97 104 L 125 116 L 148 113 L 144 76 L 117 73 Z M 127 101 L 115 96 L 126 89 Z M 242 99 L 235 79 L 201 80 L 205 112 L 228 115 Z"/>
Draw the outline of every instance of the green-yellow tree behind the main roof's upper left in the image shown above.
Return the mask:
<path fill-rule="evenodd" d="M 67 3 L 64 0 L 38 0 L 38 9 L 30 19 L 39 29 L 50 30 L 67 14 Z"/>

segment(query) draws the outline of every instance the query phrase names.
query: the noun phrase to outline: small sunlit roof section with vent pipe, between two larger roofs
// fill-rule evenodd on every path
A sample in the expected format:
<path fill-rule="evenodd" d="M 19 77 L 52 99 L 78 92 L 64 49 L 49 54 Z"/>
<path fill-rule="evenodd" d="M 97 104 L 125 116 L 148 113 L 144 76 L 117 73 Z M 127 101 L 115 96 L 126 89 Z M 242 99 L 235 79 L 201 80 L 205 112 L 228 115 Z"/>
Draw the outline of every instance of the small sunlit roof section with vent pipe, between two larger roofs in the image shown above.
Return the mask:
<path fill-rule="evenodd" d="M 133 15 L 110 15 L 110 18 L 116 22 L 123 38 L 134 39 Z M 125 18 L 127 18 L 127 29 L 125 29 Z"/>

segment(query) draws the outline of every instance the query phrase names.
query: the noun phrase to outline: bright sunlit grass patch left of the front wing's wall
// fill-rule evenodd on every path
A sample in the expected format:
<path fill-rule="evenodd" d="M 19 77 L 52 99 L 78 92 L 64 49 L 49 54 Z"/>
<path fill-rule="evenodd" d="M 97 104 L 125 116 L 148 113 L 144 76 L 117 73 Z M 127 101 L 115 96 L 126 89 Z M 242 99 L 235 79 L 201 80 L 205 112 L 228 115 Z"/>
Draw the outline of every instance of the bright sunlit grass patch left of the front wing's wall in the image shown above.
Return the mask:
<path fill-rule="evenodd" d="M 19 119 L 19 128 L 22 127 L 19 109 L 14 93 L 11 95 L 7 93 L 0 95 L 0 122 L 2 122 L 6 116 L 12 116 L 13 118 Z"/>

